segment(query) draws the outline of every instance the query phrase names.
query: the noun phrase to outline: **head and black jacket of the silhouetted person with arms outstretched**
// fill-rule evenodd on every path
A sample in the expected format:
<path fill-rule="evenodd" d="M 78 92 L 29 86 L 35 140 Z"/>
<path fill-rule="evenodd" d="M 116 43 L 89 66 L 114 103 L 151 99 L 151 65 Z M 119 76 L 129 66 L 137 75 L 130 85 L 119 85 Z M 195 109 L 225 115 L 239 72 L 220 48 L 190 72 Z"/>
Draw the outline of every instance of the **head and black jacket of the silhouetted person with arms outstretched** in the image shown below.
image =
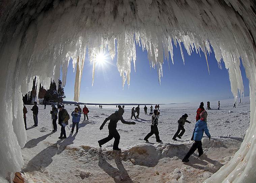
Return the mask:
<path fill-rule="evenodd" d="M 109 125 L 108 125 L 109 129 L 116 129 L 116 125 L 117 125 L 117 122 L 119 120 L 121 120 L 121 122 L 124 123 L 124 124 L 132 124 L 131 122 L 127 122 L 127 121 L 125 121 L 123 119 L 123 116 L 122 116 L 123 113 L 124 113 L 124 110 L 121 107 L 119 107 L 118 111 L 116 111 L 115 113 L 111 114 L 109 117 L 107 117 L 104 120 L 104 122 L 102 123 L 102 126 L 104 126 L 108 120 L 110 120 L 109 121 Z"/>

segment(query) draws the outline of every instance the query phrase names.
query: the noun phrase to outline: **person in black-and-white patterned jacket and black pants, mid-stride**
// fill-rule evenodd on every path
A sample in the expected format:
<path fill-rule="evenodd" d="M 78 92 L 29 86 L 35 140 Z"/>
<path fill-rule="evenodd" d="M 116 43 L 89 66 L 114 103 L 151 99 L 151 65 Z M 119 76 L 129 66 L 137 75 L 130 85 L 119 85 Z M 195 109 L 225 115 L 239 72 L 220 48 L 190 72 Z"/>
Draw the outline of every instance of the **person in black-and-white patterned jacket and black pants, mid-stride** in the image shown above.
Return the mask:
<path fill-rule="evenodd" d="M 157 142 L 162 142 L 159 137 L 159 131 L 158 131 L 158 119 L 160 116 L 160 112 L 158 110 L 154 110 L 154 114 L 151 116 L 151 126 L 150 126 L 150 132 L 146 135 L 144 140 L 148 142 L 148 138 L 151 137 L 153 134 L 155 134 L 155 139 Z"/>

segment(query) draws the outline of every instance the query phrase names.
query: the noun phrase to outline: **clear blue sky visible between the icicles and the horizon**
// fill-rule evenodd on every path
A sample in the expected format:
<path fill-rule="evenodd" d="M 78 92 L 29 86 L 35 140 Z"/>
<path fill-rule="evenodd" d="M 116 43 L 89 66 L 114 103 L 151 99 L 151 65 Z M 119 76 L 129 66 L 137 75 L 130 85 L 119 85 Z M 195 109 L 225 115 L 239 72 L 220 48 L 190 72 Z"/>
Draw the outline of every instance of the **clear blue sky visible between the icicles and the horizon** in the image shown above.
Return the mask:
<path fill-rule="evenodd" d="M 92 65 L 88 56 L 85 60 L 81 92 L 79 102 L 84 103 L 185 103 L 223 100 L 233 98 L 230 89 L 228 71 L 222 62 L 222 70 L 219 69 L 214 52 L 207 55 L 210 75 L 208 73 L 206 59 L 193 52 L 188 55 L 182 44 L 185 65 L 181 58 L 179 45 L 174 46 L 174 65 L 170 62 L 170 70 L 167 60 L 163 65 L 163 78 L 161 85 L 158 82 L 157 70 L 150 68 L 147 52 L 142 51 L 136 45 L 136 72 L 131 65 L 130 88 L 125 84 L 122 87 L 122 79 L 116 67 L 116 57 L 110 64 L 104 67 L 96 66 L 94 84 L 92 86 Z M 245 96 L 249 96 L 249 81 L 245 70 L 241 67 Z M 66 86 L 64 88 L 66 101 L 74 99 L 75 72 L 72 63 L 69 62 Z"/>

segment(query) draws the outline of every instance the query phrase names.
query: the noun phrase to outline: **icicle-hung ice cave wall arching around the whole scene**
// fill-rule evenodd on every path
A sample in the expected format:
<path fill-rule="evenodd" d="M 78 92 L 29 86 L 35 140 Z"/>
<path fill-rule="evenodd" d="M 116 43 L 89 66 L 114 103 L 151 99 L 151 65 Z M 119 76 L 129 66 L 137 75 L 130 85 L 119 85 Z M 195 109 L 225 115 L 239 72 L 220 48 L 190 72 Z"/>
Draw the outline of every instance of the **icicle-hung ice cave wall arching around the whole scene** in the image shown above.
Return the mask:
<path fill-rule="evenodd" d="M 19 171 L 20 148 L 26 142 L 22 98 L 36 75 L 49 87 L 67 65 L 77 65 L 75 99 L 79 99 L 84 57 L 117 48 L 117 68 L 130 83 L 135 44 L 148 52 L 158 70 L 163 57 L 173 61 L 173 43 L 184 43 L 188 54 L 214 49 L 229 72 L 231 90 L 243 93 L 241 58 L 250 81 L 251 123 L 234 158 L 206 182 L 253 182 L 256 179 L 256 1 L 255 0 L 4 0 L 0 2 L 0 176 Z M 115 43 L 117 45 L 115 45 Z M 180 46 L 181 48 L 181 46 Z M 183 50 L 180 49 L 183 57 Z M 94 62 L 92 63 L 94 64 Z M 195 63 L 196 64 L 196 63 Z M 39 84 L 37 85 L 39 86 Z M 19 109 L 19 110 L 18 110 Z M 1 182 L 2 179 L 0 179 Z"/>

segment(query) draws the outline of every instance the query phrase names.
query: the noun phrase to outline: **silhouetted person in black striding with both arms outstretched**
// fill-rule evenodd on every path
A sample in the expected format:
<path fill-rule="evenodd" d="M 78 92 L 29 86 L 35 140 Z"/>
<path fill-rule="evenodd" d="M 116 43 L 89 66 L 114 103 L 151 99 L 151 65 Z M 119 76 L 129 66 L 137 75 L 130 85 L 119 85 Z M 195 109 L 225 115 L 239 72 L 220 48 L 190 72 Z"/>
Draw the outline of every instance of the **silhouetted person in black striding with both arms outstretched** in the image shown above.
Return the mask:
<path fill-rule="evenodd" d="M 102 123 L 101 127 L 99 127 L 99 130 L 103 129 L 103 126 L 106 124 L 106 122 L 108 120 L 110 120 L 109 125 L 108 125 L 108 129 L 109 129 L 109 135 L 108 137 L 101 139 L 98 141 L 99 143 L 99 147 L 102 147 L 103 144 L 106 144 L 107 142 L 109 142 L 110 140 L 112 140 L 113 138 L 115 139 L 114 144 L 113 144 L 113 150 L 117 150 L 120 151 L 121 149 L 118 148 L 119 145 L 119 140 L 120 140 L 120 135 L 116 130 L 116 124 L 119 120 L 121 120 L 122 123 L 124 124 L 136 124 L 135 122 L 127 122 L 123 119 L 123 113 L 124 110 L 122 109 L 122 107 L 118 106 L 118 111 L 115 111 L 115 113 L 111 114 L 109 117 L 107 117 L 104 122 Z"/>

